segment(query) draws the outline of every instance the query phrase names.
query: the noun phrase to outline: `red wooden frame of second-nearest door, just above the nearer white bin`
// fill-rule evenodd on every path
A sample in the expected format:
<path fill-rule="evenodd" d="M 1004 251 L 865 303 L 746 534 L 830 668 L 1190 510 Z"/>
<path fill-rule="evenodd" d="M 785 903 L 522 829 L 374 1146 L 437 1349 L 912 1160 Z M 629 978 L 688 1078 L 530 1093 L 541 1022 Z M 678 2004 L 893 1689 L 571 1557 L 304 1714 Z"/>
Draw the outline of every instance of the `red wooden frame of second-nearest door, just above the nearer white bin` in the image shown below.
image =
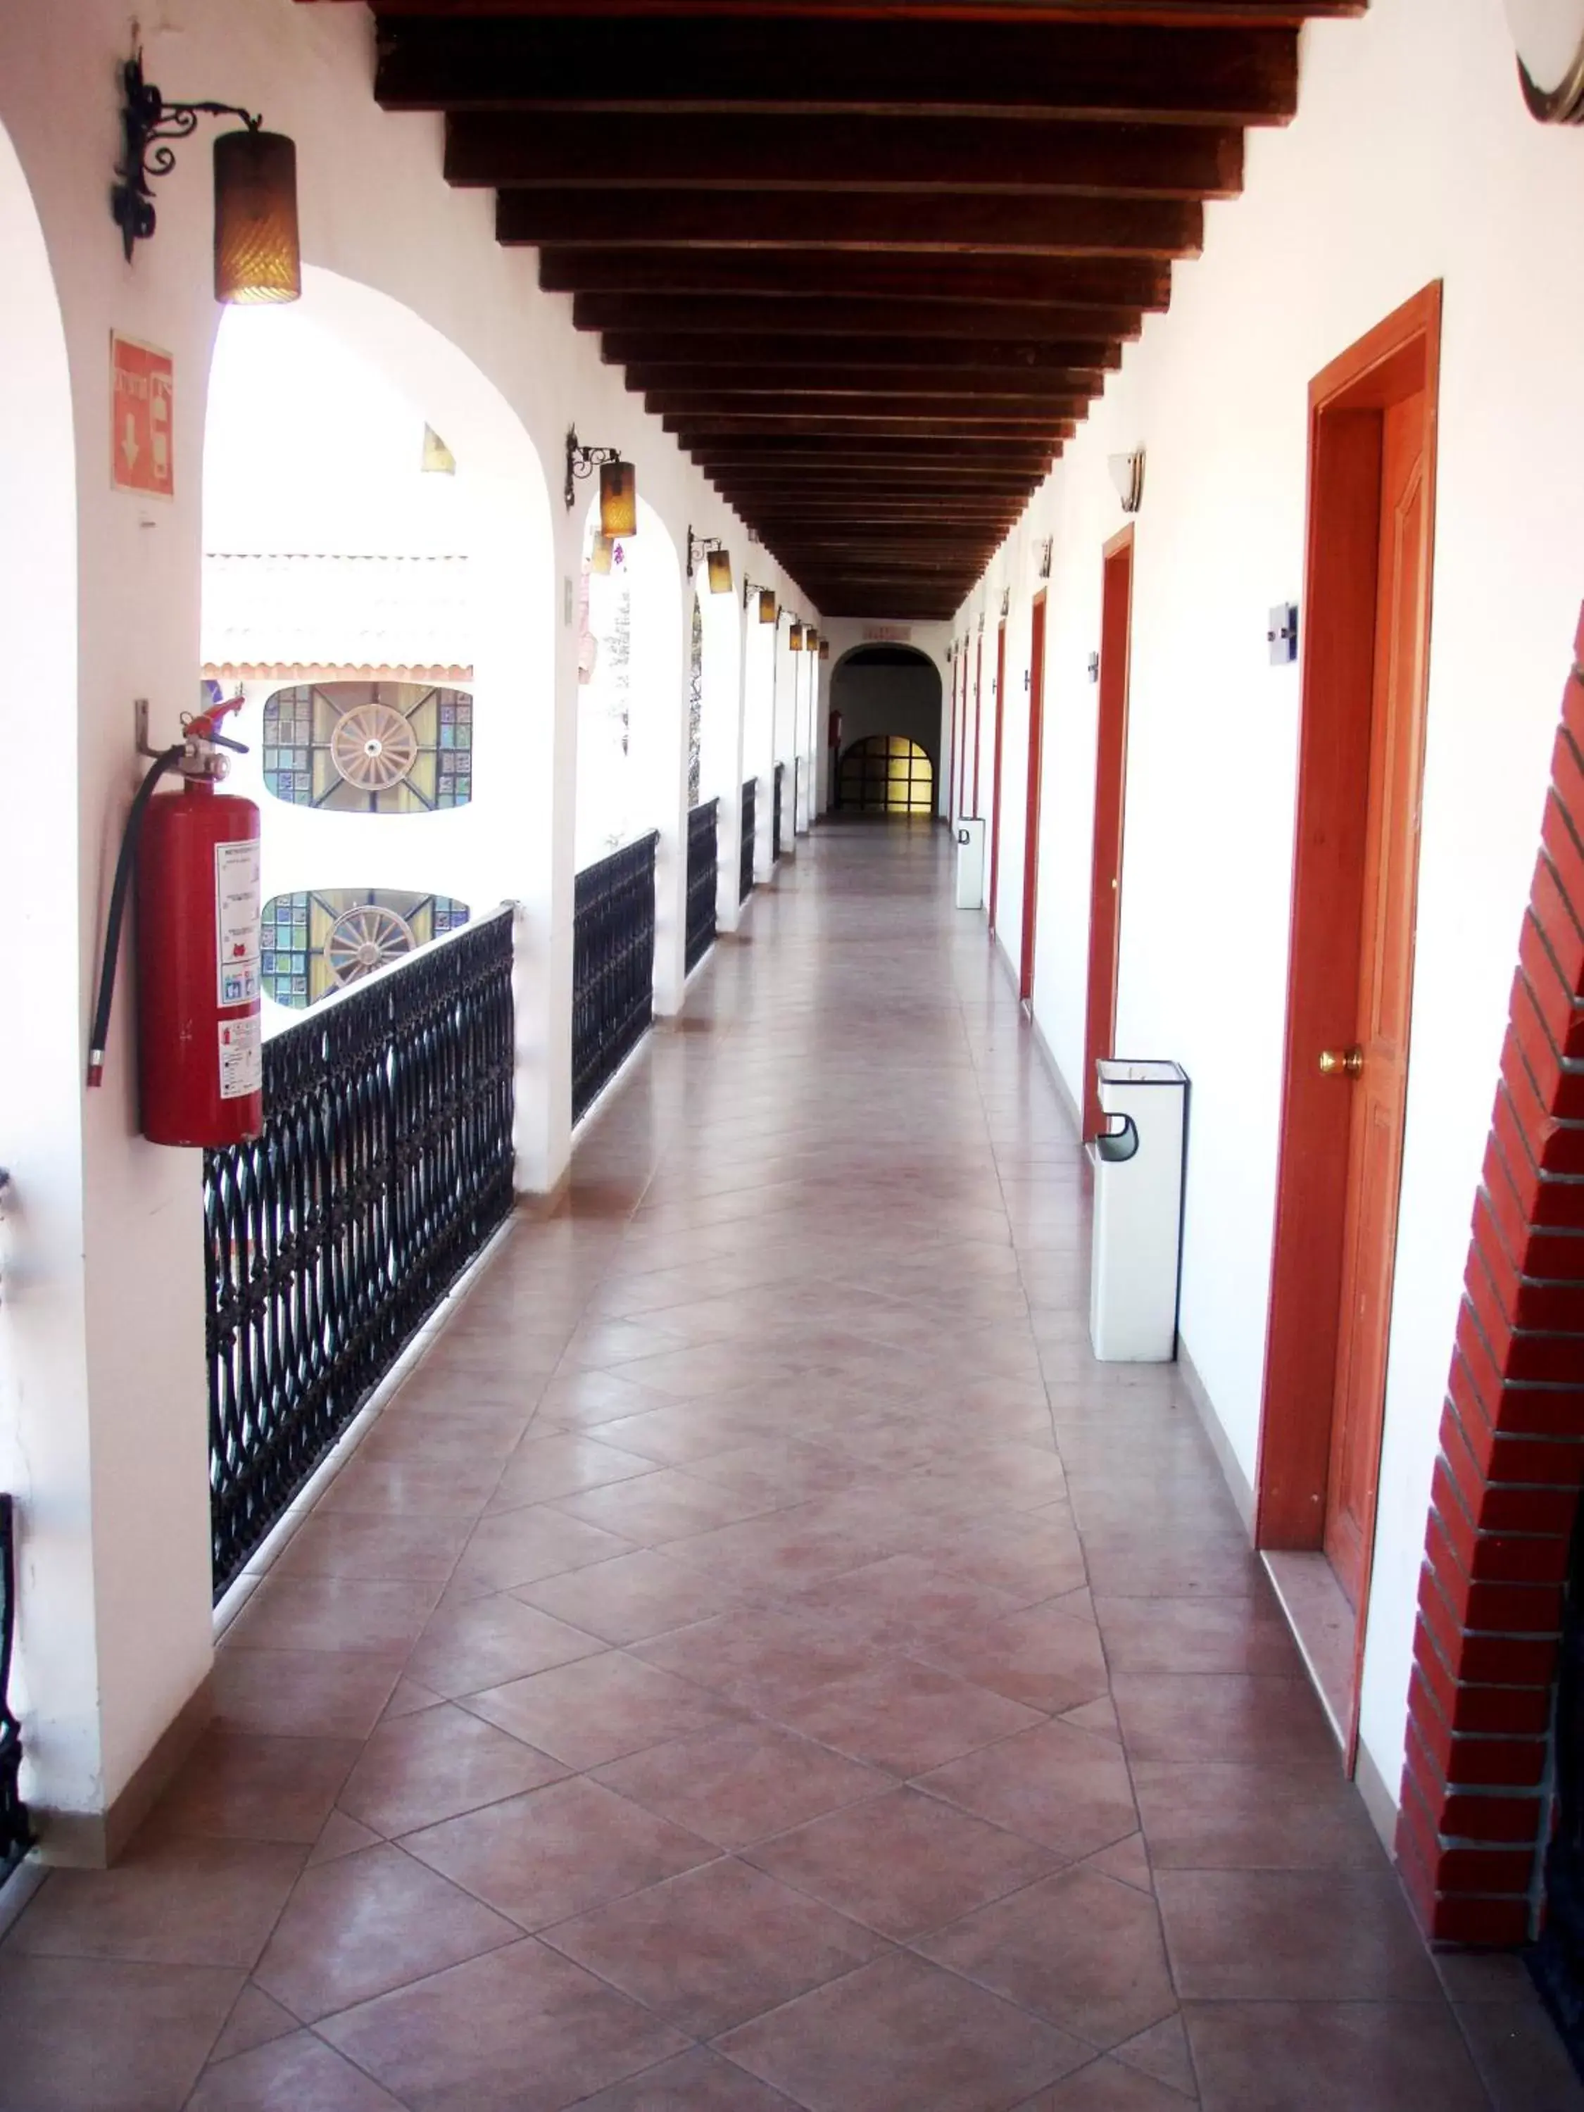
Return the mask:
<path fill-rule="evenodd" d="M 1090 959 L 1083 984 L 1086 1143 L 1100 1134 L 1096 1058 L 1115 1056 L 1121 963 L 1121 851 L 1128 811 L 1128 695 L 1132 686 L 1134 524 L 1100 551 L 1100 695 L 1094 724 L 1094 838 L 1090 851 Z M 1119 581 L 1119 587 L 1113 585 Z"/>

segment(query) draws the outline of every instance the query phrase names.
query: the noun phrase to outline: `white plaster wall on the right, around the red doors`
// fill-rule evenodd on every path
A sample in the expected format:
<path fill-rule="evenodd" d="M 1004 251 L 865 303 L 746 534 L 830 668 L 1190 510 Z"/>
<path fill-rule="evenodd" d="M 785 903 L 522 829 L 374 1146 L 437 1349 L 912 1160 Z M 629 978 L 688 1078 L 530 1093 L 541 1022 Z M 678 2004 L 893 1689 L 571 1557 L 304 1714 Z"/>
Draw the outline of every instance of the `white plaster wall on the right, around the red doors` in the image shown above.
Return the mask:
<path fill-rule="evenodd" d="M 1094 800 L 1105 458 L 1147 446 L 1121 879 L 1124 1054 L 1193 1079 L 1183 1337 L 1242 1470 L 1259 1438 L 1276 1187 L 1297 670 L 1265 617 L 1303 585 L 1309 378 L 1445 279 L 1434 638 L 1402 1214 L 1362 1738 L 1396 1789 L 1430 1468 L 1584 596 L 1584 137 L 1538 127 L 1500 0 L 1373 0 L 1314 23 L 1301 116 L 1252 133 L 1079 437 L 967 608 L 1007 627 L 1001 940 L 1022 881 L 1033 549 L 1054 536 L 1035 1012 L 1073 1088 Z M 991 615 L 988 625 L 995 617 Z M 986 625 L 986 629 L 988 629 Z"/>

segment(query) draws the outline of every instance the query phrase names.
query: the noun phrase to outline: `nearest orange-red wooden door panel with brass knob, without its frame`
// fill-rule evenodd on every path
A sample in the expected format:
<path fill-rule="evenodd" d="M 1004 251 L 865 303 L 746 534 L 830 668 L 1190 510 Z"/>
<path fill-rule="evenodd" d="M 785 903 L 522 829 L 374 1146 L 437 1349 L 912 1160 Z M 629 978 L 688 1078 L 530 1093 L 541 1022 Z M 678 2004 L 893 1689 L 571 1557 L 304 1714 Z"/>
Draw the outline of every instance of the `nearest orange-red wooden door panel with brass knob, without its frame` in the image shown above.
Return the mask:
<path fill-rule="evenodd" d="M 1381 541 L 1369 741 L 1364 910 L 1352 1050 L 1333 1052 L 1352 1094 L 1343 1217 L 1337 1392 L 1331 1415 L 1326 1554 L 1358 1605 L 1385 1411 L 1392 1263 L 1402 1172 L 1413 999 L 1413 895 L 1419 845 L 1419 739 L 1428 593 L 1428 420 L 1423 393 L 1381 420 Z M 1335 1069 L 1335 1058 L 1343 1069 Z"/>

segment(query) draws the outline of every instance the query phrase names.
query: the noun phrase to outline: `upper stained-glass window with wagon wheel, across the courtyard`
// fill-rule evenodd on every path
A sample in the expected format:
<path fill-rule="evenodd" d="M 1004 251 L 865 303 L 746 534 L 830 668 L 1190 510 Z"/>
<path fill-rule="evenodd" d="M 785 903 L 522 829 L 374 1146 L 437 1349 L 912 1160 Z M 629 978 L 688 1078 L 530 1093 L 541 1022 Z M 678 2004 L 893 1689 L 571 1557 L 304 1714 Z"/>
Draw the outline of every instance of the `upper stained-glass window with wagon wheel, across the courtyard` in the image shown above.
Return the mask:
<path fill-rule="evenodd" d="M 300 682 L 264 705 L 264 786 L 329 813 L 435 813 L 473 798 L 473 699 L 425 682 Z"/>

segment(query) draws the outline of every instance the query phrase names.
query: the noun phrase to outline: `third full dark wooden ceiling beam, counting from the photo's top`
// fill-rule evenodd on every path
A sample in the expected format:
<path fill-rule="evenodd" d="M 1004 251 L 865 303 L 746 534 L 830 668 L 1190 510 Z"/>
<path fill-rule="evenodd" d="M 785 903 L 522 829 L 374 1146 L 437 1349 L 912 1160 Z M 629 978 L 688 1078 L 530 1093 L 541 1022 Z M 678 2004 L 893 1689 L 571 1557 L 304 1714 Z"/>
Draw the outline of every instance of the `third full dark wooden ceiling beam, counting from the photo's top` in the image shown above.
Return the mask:
<path fill-rule="evenodd" d="M 790 190 L 503 190 L 507 247 L 902 249 L 919 256 L 1185 258 L 1204 207 L 1183 199 L 993 199 Z"/>

